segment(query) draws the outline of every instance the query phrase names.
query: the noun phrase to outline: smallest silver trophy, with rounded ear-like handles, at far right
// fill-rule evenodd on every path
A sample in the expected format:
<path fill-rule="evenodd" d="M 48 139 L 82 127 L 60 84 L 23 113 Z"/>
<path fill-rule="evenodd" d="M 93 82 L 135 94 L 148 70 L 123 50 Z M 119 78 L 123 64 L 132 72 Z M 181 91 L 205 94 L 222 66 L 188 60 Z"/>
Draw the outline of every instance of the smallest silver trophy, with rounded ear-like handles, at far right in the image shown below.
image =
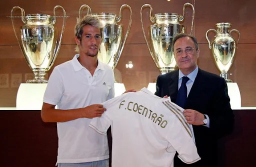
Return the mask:
<path fill-rule="evenodd" d="M 209 43 L 209 48 L 212 51 L 212 56 L 215 65 L 221 72 L 220 76 L 223 77 L 226 82 L 232 82 L 228 79 L 228 70 L 234 61 L 234 53 L 236 49 L 236 44 L 239 41 L 240 33 L 237 29 L 230 30 L 231 23 L 229 22 L 219 22 L 216 23 L 216 29 L 208 29 L 205 33 L 205 37 Z M 210 42 L 208 38 L 208 32 L 215 32 L 214 39 Z M 238 33 L 238 39 L 235 39 L 230 35 L 232 31 Z"/>

